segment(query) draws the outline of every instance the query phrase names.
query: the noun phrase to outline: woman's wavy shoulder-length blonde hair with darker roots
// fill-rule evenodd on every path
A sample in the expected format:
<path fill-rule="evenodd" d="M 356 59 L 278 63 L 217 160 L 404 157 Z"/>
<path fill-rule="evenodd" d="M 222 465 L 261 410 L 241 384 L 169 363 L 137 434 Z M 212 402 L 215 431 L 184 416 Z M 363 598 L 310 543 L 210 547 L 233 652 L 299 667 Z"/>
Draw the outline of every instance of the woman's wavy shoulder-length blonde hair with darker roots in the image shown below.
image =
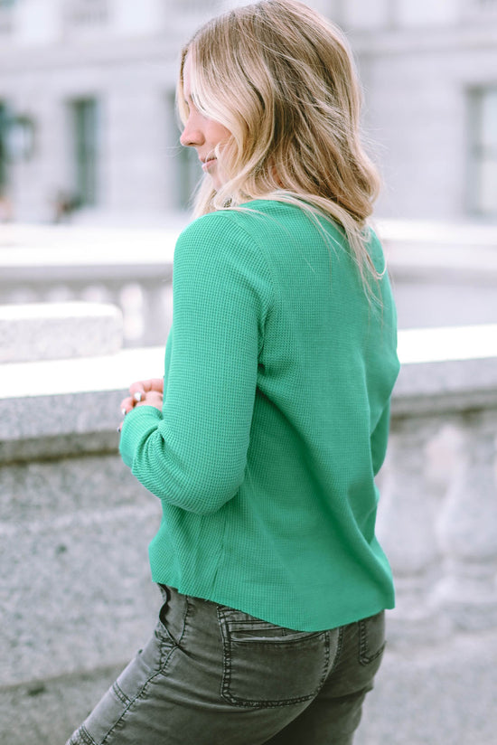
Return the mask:
<path fill-rule="evenodd" d="M 260 198 L 296 203 L 342 226 L 370 289 L 380 275 L 367 219 L 380 178 L 361 145 L 361 89 L 341 30 L 295 0 L 261 0 L 212 19 L 183 48 L 183 123 L 187 55 L 195 106 L 231 133 L 215 151 L 224 184 L 216 191 L 204 176 L 195 215 Z"/>

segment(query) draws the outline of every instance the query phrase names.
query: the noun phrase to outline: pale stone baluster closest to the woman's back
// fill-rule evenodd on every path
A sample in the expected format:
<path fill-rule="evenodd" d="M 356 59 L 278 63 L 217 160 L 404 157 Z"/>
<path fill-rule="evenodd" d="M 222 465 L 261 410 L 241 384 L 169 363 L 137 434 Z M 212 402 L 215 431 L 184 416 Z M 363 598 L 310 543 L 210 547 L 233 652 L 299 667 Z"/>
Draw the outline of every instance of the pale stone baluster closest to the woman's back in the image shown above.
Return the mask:
<path fill-rule="evenodd" d="M 430 603 L 440 572 L 436 544 L 437 500 L 427 477 L 427 446 L 439 428 L 435 417 L 393 419 L 380 488 L 378 536 L 394 574 L 397 603 L 390 638 L 436 633 Z"/>

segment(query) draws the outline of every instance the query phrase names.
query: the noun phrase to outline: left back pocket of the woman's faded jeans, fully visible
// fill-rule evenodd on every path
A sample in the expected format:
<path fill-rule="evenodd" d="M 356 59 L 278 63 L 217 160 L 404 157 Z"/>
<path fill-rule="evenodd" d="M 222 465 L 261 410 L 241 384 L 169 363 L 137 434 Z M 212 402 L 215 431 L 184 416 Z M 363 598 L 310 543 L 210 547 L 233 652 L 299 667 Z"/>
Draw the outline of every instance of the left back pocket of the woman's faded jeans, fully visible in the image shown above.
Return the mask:
<path fill-rule="evenodd" d="M 260 708 L 300 703 L 317 695 L 336 652 L 337 633 L 278 627 L 224 606 L 218 608 L 218 616 L 221 694 L 226 701 Z"/>

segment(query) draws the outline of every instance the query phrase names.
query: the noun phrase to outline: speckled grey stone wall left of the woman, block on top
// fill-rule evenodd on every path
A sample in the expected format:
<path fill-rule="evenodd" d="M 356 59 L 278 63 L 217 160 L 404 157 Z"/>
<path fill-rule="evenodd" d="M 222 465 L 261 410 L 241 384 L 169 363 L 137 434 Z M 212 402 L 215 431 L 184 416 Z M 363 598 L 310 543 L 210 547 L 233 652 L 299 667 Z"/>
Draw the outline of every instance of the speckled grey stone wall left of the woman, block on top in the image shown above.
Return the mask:
<path fill-rule="evenodd" d="M 122 467 L 116 428 L 164 351 L 118 351 L 113 306 L 15 309 L 0 308 L 0 742 L 52 745 L 150 628 L 160 507 Z"/>

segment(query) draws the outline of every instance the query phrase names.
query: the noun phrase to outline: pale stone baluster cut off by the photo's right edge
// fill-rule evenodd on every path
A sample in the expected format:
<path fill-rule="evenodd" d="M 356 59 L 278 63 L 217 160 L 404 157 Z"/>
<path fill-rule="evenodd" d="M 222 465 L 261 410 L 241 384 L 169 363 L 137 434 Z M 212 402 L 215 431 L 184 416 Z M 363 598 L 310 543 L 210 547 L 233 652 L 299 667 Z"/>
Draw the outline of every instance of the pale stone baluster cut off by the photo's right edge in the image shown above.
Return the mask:
<path fill-rule="evenodd" d="M 461 418 L 457 467 L 437 523 L 445 576 L 436 600 L 455 627 L 497 625 L 497 412 Z"/>

